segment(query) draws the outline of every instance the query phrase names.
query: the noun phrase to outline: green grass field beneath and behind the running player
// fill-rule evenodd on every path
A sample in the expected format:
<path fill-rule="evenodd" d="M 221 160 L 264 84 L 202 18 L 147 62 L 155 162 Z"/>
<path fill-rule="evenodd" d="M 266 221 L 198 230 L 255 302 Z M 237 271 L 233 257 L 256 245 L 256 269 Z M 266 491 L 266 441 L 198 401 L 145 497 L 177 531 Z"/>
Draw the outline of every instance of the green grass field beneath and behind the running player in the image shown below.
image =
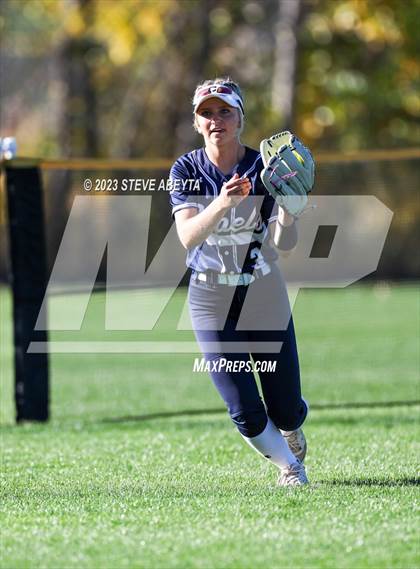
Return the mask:
<path fill-rule="evenodd" d="M 168 337 L 182 302 L 180 292 L 155 338 Z M 69 306 L 56 297 L 51 309 Z M 94 295 L 82 330 L 53 339 L 142 337 L 101 331 L 103 307 Z M 418 308 L 415 286 L 303 291 L 305 397 L 419 399 Z M 147 418 L 221 407 L 191 355 L 54 354 L 52 421 L 14 426 L 4 290 L 0 309 L 2 568 L 420 565 L 418 407 L 313 410 L 312 484 L 285 491 L 226 414 Z"/>

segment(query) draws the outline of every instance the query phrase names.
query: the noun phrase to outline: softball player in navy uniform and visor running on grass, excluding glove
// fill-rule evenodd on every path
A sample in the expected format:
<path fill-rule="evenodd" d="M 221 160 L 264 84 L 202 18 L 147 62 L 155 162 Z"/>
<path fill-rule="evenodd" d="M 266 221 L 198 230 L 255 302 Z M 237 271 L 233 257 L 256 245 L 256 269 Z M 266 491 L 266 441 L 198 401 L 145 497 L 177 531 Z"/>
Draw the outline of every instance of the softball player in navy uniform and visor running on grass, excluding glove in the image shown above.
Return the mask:
<path fill-rule="evenodd" d="M 170 178 L 172 213 L 192 269 L 194 332 L 243 438 L 280 469 L 279 485 L 303 485 L 308 480 L 301 425 L 308 407 L 276 264 L 278 248 L 296 244 L 295 218 L 262 184 L 260 153 L 240 141 L 239 86 L 229 79 L 205 81 L 195 90 L 193 112 L 204 147 L 178 158 Z M 191 180 L 198 180 L 199 189 Z M 257 362 L 263 399 L 254 376 Z"/>

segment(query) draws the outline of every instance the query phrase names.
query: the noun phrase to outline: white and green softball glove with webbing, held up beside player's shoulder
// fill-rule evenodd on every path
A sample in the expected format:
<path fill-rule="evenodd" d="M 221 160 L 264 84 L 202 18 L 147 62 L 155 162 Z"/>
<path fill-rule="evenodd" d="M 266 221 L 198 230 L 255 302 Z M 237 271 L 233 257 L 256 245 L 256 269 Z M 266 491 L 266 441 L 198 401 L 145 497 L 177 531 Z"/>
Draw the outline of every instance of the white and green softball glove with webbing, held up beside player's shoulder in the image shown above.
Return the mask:
<path fill-rule="evenodd" d="M 261 180 L 280 207 L 299 217 L 308 204 L 315 178 L 310 151 L 288 130 L 260 144 L 264 163 Z"/>

